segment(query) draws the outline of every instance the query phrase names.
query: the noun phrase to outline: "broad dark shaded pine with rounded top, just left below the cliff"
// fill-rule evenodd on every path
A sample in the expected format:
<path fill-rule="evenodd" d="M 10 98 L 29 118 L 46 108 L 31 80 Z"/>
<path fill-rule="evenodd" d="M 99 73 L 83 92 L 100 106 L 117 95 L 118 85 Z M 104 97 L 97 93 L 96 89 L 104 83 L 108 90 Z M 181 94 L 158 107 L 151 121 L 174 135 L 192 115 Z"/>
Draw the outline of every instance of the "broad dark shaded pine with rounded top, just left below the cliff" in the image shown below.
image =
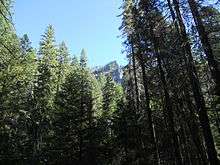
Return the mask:
<path fill-rule="evenodd" d="M 76 68 L 58 92 L 55 146 L 59 149 L 56 154 L 62 160 L 95 164 L 96 118 L 101 108 L 96 84 L 88 70 Z"/>

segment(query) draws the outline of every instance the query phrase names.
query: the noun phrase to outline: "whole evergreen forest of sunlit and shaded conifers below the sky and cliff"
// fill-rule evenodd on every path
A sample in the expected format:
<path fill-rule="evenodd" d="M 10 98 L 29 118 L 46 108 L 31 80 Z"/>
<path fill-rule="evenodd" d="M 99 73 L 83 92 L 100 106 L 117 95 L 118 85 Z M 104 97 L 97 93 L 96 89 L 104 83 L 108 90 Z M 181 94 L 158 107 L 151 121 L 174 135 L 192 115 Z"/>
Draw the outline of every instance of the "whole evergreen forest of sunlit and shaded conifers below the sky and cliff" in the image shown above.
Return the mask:
<path fill-rule="evenodd" d="M 13 3 L 0 0 L 1 165 L 220 165 L 219 0 L 122 0 L 120 82 L 53 25 L 32 47 Z"/>

